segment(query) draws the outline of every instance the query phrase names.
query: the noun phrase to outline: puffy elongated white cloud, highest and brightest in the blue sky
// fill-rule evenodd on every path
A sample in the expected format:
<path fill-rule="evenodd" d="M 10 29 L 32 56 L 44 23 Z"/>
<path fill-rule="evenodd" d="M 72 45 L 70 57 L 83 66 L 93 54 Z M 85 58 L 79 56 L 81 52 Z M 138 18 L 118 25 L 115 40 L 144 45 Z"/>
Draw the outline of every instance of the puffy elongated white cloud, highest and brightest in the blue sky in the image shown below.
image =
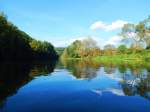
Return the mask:
<path fill-rule="evenodd" d="M 111 24 L 104 23 L 102 21 L 97 21 L 93 23 L 90 27 L 91 30 L 105 30 L 105 31 L 112 31 L 116 29 L 120 29 L 124 26 L 124 24 L 127 24 L 127 21 L 123 20 L 116 20 L 112 22 Z"/>

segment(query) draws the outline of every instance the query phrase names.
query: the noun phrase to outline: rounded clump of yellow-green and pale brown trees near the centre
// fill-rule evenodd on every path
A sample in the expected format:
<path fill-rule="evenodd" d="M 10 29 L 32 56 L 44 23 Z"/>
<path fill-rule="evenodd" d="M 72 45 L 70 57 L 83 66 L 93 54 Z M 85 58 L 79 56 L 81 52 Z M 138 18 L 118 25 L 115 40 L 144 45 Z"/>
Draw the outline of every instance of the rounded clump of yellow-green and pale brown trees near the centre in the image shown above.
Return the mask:
<path fill-rule="evenodd" d="M 76 40 L 67 47 L 63 54 L 63 58 L 84 58 L 100 55 L 100 49 L 96 42 L 91 38 L 84 40 Z"/>

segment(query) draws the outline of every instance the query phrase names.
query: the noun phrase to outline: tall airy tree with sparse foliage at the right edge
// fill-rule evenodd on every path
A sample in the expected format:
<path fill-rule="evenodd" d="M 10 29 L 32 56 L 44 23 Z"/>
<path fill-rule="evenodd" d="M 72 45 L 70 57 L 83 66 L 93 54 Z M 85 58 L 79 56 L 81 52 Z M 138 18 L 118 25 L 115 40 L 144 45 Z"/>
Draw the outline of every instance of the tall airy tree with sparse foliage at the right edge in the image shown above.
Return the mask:
<path fill-rule="evenodd" d="M 120 35 L 123 37 L 123 40 L 128 40 L 134 46 L 135 50 L 138 50 L 138 47 L 141 46 L 142 43 L 146 45 L 146 48 L 149 48 L 150 17 L 136 25 L 130 23 L 125 24 Z"/>

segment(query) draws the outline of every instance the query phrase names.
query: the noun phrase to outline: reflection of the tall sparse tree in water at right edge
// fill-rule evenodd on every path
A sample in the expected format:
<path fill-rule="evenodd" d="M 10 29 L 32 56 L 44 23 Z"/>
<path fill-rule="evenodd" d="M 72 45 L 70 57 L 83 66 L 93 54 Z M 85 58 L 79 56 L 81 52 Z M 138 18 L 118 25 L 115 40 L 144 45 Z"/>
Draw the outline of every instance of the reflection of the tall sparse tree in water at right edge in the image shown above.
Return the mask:
<path fill-rule="evenodd" d="M 129 69 L 123 76 L 122 88 L 126 95 L 140 95 L 150 99 L 150 72 L 146 69 Z"/>

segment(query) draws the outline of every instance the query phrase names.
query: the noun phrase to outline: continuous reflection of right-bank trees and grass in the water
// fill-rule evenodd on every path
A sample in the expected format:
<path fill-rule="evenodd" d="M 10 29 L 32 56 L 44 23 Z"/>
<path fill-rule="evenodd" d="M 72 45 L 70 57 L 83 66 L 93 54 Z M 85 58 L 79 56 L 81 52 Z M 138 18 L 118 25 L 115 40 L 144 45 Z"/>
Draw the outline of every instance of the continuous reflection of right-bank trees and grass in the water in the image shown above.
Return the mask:
<path fill-rule="evenodd" d="M 97 63 L 91 60 L 62 60 L 61 62 L 77 79 L 92 80 L 98 75 L 98 70 L 103 67 L 107 75 L 117 74 L 117 77 L 121 77 L 120 84 L 125 95 L 140 95 L 150 99 L 148 63 Z"/>

